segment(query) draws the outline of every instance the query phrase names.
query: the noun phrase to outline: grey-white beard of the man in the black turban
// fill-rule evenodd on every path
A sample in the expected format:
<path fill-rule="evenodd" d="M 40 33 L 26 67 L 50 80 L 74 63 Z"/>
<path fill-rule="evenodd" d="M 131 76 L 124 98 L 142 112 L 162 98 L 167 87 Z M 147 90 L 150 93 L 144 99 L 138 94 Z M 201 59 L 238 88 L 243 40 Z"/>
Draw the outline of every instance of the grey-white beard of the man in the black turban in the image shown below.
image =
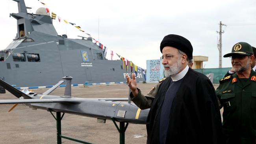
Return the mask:
<path fill-rule="evenodd" d="M 170 67 L 168 70 L 164 71 L 164 74 L 166 77 L 174 76 L 180 72 L 182 69 L 182 58 L 178 59 L 176 63 L 174 63 L 172 66 L 170 65 L 163 65 L 164 67 Z"/>

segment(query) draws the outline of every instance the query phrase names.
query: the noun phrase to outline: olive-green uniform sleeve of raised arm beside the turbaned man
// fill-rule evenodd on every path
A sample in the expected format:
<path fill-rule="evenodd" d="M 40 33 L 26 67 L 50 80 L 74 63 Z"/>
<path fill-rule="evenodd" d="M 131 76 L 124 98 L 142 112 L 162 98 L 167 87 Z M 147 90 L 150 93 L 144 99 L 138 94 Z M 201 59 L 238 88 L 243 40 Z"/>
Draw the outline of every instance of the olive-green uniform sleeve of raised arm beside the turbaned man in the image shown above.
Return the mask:
<path fill-rule="evenodd" d="M 130 93 L 131 100 L 137 105 L 140 109 L 149 109 L 151 107 L 152 101 L 156 97 L 158 87 L 160 86 L 161 82 L 166 78 L 160 79 L 159 83 L 157 83 L 152 89 L 148 92 L 148 94 L 143 95 L 141 90 L 137 88 L 139 91 L 138 95 L 134 97 L 132 92 Z"/>

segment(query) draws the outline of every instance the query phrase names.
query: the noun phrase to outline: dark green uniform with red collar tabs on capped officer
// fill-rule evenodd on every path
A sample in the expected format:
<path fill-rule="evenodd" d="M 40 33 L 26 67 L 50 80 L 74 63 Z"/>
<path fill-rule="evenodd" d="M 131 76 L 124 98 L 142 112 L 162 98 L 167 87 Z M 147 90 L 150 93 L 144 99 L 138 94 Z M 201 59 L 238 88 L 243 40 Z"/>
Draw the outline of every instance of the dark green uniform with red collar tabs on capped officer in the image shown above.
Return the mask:
<path fill-rule="evenodd" d="M 216 93 L 224 107 L 226 144 L 256 144 L 256 72 L 247 79 L 237 74 L 221 79 Z"/>

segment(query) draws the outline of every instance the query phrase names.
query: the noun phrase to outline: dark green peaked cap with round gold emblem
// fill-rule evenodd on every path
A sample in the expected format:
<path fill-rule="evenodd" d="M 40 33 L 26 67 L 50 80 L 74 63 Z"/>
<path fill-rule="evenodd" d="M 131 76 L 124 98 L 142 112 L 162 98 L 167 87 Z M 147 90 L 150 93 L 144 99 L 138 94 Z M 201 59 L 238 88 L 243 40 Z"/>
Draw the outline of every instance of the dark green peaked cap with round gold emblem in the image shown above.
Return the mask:
<path fill-rule="evenodd" d="M 232 52 L 225 54 L 223 57 L 231 57 L 232 55 L 253 55 L 252 46 L 247 42 L 238 42 L 232 47 Z"/>

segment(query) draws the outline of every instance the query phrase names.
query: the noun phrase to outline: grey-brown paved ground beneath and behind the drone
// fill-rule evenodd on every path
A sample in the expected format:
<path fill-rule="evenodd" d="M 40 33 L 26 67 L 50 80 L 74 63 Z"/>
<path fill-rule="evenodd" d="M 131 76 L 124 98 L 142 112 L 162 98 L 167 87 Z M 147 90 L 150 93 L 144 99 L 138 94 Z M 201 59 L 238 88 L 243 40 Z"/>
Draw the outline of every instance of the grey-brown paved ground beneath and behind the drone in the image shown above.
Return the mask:
<path fill-rule="evenodd" d="M 154 83 L 143 83 L 138 84 L 138 87 L 143 93 L 147 93 L 154 85 Z M 43 93 L 46 90 L 37 89 L 34 91 Z M 62 95 L 64 88 L 58 88 L 51 94 Z M 80 98 L 126 98 L 128 87 L 125 84 L 72 87 L 72 96 Z M 0 99 L 15 98 L 9 92 L 0 94 Z M 19 104 L 13 111 L 7 113 L 11 106 L 0 105 L 0 144 L 56 144 L 56 120 L 49 112 L 40 109 L 35 111 Z M 95 144 L 119 144 L 119 133 L 113 122 L 107 120 L 106 124 L 101 124 L 96 121 L 96 118 L 65 114 L 61 121 L 62 135 Z M 128 125 L 125 133 L 126 144 L 145 144 L 146 141 L 145 125 Z M 66 139 L 62 139 L 62 143 L 78 144 Z"/>

